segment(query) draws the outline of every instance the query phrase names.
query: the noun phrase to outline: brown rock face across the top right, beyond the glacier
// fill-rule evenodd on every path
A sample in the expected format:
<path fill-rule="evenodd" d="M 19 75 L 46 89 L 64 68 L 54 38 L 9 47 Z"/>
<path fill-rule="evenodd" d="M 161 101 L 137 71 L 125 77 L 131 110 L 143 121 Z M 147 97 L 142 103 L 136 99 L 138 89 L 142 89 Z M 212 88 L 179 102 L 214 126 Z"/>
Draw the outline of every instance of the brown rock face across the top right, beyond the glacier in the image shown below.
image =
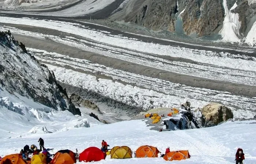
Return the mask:
<path fill-rule="evenodd" d="M 191 36 L 218 36 L 225 18 L 224 4 L 239 14 L 239 37 L 256 21 L 253 0 L 130 0 L 112 18 L 133 22 L 154 31 L 167 30 Z"/>

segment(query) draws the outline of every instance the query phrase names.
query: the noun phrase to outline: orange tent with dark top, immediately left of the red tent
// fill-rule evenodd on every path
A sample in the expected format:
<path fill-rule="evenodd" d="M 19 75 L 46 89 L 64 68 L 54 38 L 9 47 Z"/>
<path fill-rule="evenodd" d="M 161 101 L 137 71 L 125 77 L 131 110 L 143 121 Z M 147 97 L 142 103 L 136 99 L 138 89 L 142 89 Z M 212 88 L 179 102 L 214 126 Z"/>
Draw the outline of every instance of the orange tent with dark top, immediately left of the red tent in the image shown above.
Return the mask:
<path fill-rule="evenodd" d="M 76 163 L 76 155 L 71 150 L 60 150 L 54 154 L 50 164 L 74 164 Z"/>

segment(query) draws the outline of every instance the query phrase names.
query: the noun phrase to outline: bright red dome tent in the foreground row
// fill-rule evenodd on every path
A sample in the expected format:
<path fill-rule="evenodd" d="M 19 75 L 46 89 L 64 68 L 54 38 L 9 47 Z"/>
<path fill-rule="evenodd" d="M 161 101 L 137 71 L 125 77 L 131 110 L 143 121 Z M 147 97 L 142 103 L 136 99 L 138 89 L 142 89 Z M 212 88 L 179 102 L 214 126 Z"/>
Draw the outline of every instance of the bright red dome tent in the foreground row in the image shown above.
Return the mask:
<path fill-rule="evenodd" d="M 96 147 L 87 148 L 79 154 L 79 161 L 85 162 L 100 161 L 105 158 L 106 153 L 102 152 L 101 149 Z"/>

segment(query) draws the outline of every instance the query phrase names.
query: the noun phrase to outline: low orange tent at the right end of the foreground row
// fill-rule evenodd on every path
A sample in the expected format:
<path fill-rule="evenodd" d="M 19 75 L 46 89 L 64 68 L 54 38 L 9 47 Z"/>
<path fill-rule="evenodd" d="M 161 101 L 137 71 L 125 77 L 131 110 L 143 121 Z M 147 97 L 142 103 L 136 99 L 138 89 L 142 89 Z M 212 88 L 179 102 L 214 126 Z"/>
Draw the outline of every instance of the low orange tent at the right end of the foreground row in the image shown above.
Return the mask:
<path fill-rule="evenodd" d="M 190 158 L 188 151 L 173 151 L 163 156 L 163 159 L 165 159 L 166 161 L 182 160 L 187 158 Z"/>

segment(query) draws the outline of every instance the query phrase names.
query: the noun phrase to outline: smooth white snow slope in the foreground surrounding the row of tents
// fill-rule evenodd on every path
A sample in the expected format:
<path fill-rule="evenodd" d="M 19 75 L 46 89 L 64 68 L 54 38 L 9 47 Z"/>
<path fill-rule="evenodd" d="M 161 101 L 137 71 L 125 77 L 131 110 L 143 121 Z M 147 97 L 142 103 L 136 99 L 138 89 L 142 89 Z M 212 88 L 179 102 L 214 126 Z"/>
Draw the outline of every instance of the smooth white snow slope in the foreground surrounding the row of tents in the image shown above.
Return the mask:
<path fill-rule="evenodd" d="M 188 150 L 191 158 L 181 161 L 165 161 L 163 158 L 133 158 L 110 159 L 96 162 L 98 164 L 233 164 L 234 155 L 238 147 L 244 149 L 245 164 L 255 164 L 256 153 L 256 121 L 225 122 L 219 126 L 202 129 L 176 130 L 157 132 L 149 130 L 142 120 L 122 121 L 114 124 L 101 125 L 91 128 L 71 129 L 52 134 L 30 134 L 20 138 L 1 138 L 0 156 L 19 153 L 26 144 L 38 145 L 38 138 L 42 137 L 46 148 L 54 148 L 51 154 L 60 149 L 70 149 L 79 152 L 95 146 L 101 147 L 105 140 L 114 146 L 127 145 L 136 151 L 141 145 L 155 146 L 162 153 L 168 146 L 171 150 Z M 82 162 L 83 163 L 83 162 Z"/>

